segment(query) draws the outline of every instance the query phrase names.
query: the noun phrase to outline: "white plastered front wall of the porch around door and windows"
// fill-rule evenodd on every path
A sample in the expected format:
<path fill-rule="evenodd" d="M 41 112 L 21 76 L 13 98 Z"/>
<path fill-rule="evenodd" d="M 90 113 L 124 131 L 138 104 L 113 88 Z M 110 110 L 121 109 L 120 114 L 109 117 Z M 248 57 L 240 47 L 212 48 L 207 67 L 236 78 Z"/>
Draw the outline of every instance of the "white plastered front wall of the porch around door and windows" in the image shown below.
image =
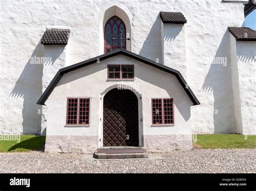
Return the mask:
<path fill-rule="evenodd" d="M 138 98 L 140 146 L 146 146 L 147 139 L 143 140 L 142 138 L 147 135 L 191 134 L 190 107 L 193 103 L 177 78 L 128 56 L 118 55 L 64 74 L 45 102 L 48 107 L 48 127 L 46 129 L 48 136 L 97 136 L 98 146 L 103 146 L 102 141 L 99 142 L 99 138 L 103 140 L 104 95 L 110 89 L 117 88 L 118 84 L 122 83 L 122 80 L 107 80 L 108 64 L 134 65 L 135 79 L 123 82 L 135 88 L 132 91 Z M 67 97 L 91 97 L 90 126 L 65 125 Z M 102 100 L 100 100 L 100 97 L 102 97 Z M 152 98 L 173 98 L 174 125 L 152 125 Z M 100 118 L 102 121 L 100 121 Z M 169 142 L 172 141 L 173 139 L 169 140 Z M 191 141 L 188 141 L 188 143 L 191 143 Z M 155 145 L 158 146 L 157 143 Z"/>

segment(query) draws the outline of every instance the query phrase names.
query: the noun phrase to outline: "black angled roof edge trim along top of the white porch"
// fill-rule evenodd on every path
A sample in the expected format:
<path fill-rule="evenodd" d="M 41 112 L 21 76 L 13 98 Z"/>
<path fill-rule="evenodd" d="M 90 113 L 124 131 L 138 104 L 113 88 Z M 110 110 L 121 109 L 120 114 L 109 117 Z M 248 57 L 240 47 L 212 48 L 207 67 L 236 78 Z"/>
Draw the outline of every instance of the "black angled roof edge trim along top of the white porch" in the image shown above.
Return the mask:
<path fill-rule="evenodd" d="M 50 96 L 52 90 L 57 86 L 59 80 L 62 78 L 62 76 L 65 73 L 71 72 L 73 70 L 76 70 L 76 69 L 79 69 L 79 68 L 82 68 L 82 67 L 85 67 L 85 66 L 89 66 L 92 63 L 96 63 L 98 60 L 105 60 L 105 59 L 111 58 L 112 56 L 115 56 L 115 55 L 118 55 L 118 54 L 127 55 L 130 58 L 133 58 L 133 59 L 136 59 L 138 61 L 144 62 L 144 63 L 146 63 L 150 66 L 153 66 L 155 68 L 164 70 L 167 73 L 175 75 L 177 77 L 178 81 L 180 82 L 181 86 L 183 87 L 183 89 L 186 91 L 187 95 L 190 97 L 193 104 L 194 105 L 199 105 L 200 104 L 196 95 L 194 95 L 194 93 L 192 92 L 190 87 L 187 85 L 185 79 L 183 78 L 183 76 L 180 74 L 180 72 L 178 70 L 167 67 L 167 66 L 165 66 L 161 63 L 154 62 L 154 61 L 152 61 L 150 59 L 147 59 L 143 56 L 140 56 L 138 54 L 134 54 L 130 51 L 126 51 L 125 49 L 117 49 L 116 51 L 112 51 L 110 53 L 102 54 L 102 55 L 99 55 L 95 58 L 91 58 L 89 60 L 85 60 L 85 61 L 76 63 L 74 65 L 59 69 L 59 71 L 57 72 L 55 77 L 53 77 L 49 86 L 45 89 L 43 95 L 37 101 L 37 104 L 44 105 L 45 101 Z"/>

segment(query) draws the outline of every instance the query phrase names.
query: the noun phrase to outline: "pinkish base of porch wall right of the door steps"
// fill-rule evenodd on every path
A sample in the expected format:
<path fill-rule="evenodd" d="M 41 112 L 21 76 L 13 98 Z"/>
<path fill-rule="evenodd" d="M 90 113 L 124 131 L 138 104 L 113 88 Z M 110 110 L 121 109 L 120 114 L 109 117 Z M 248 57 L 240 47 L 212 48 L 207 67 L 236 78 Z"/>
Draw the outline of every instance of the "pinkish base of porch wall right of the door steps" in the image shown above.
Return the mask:
<path fill-rule="evenodd" d="M 145 135 L 147 152 L 187 151 L 192 149 L 192 135 Z"/>

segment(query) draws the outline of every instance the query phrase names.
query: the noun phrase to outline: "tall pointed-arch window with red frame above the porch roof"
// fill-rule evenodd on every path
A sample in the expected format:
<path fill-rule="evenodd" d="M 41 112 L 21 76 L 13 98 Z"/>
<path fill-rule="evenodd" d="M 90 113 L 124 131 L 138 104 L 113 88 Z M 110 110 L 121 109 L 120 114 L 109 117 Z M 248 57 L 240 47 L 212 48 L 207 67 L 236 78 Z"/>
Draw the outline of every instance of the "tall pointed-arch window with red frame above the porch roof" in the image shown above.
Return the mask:
<path fill-rule="evenodd" d="M 120 30 L 123 31 L 122 39 L 126 38 L 126 28 L 122 19 L 113 16 L 107 20 L 104 29 L 104 53 L 121 48 L 121 40 L 112 40 L 112 38 L 121 38 Z M 122 40 L 122 48 L 126 49 L 126 40 Z"/>

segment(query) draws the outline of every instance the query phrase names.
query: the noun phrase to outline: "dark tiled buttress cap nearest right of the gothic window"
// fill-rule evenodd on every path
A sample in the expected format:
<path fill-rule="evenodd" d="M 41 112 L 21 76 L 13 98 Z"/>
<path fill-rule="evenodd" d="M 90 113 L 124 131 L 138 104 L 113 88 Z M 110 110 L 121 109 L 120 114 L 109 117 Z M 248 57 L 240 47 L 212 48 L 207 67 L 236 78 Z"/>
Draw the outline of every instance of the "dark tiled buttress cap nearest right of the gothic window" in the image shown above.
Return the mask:
<path fill-rule="evenodd" d="M 176 23 L 184 24 L 187 23 L 186 18 L 181 12 L 160 12 L 160 18 L 163 23 Z"/>

